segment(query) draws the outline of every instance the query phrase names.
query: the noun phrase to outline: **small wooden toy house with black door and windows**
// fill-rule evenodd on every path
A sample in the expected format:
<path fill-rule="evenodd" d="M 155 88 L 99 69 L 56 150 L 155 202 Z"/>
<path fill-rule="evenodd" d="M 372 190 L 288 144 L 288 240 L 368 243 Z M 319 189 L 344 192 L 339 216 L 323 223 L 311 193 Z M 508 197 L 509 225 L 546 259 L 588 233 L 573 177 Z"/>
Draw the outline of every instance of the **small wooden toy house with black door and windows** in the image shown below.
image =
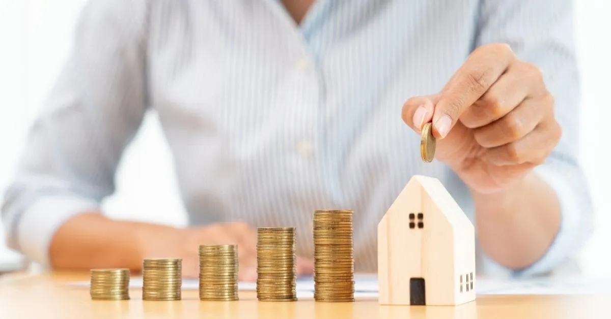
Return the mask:
<path fill-rule="evenodd" d="M 475 300 L 474 226 L 438 179 L 413 176 L 378 224 L 379 304 Z"/>

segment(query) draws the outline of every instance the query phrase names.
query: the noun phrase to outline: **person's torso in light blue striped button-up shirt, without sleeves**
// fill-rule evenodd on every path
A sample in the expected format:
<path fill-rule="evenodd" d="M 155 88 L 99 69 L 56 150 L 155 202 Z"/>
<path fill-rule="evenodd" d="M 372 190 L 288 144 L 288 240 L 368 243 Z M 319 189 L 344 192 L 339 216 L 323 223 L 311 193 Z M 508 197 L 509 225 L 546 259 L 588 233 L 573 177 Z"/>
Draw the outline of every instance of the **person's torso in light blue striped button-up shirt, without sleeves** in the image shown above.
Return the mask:
<path fill-rule="evenodd" d="M 318 1 L 295 27 L 279 1 L 155 1 L 150 107 L 192 224 L 295 226 L 312 256 L 316 209 L 354 210 L 355 271 L 376 269 L 377 225 L 414 174 L 468 191 L 401 120 L 472 50 L 478 1 Z"/>

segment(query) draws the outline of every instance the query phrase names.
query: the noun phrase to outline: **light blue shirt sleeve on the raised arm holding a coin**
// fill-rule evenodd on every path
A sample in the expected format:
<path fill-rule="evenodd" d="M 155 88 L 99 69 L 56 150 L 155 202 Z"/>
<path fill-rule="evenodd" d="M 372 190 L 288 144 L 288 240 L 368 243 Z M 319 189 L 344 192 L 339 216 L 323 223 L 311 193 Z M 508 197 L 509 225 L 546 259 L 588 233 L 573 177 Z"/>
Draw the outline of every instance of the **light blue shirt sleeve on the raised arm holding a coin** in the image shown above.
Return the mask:
<path fill-rule="evenodd" d="M 580 101 L 573 14 L 571 0 L 481 2 L 476 45 L 507 43 L 519 59 L 538 66 L 555 98 L 555 115 L 563 130 L 552 154 L 535 168 L 560 201 L 560 231 L 540 260 L 520 271 L 507 270 L 510 276 L 550 274 L 562 268 L 577 257 L 593 228 L 588 183 L 577 157 Z"/>

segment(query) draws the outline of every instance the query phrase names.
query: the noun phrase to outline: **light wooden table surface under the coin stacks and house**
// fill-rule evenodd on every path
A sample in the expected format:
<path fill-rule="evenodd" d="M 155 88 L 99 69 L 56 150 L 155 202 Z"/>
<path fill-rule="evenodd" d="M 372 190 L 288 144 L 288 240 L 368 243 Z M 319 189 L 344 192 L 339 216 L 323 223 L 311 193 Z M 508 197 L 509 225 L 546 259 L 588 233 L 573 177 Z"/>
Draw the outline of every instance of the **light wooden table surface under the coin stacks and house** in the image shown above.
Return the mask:
<path fill-rule="evenodd" d="M 130 289 L 128 301 L 92 301 L 88 273 L 5 274 L 0 276 L 0 318 L 611 318 L 611 295 L 478 296 L 461 306 L 379 306 L 375 298 L 354 303 L 259 302 L 254 292 L 240 301 L 200 301 L 197 290 L 183 290 L 180 301 L 142 301 Z"/>

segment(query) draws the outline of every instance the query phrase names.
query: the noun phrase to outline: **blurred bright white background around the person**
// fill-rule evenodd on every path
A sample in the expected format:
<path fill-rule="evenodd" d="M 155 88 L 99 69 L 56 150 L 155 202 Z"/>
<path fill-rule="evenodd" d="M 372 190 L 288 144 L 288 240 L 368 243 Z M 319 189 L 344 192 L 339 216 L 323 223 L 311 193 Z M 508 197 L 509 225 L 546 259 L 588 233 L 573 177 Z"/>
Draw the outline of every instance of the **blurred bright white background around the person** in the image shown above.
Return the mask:
<path fill-rule="evenodd" d="M 0 191 L 12 178 L 32 118 L 67 58 L 73 27 L 86 0 L 0 0 Z M 604 199 L 611 170 L 604 165 L 606 139 L 599 124 L 611 118 L 609 76 L 611 1 L 575 1 L 576 35 L 582 71 L 581 157 L 590 179 L 597 228 L 582 253 L 588 276 L 611 276 L 606 256 L 611 243 L 611 201 Z M 186 222 L 172 170 L 172 158 L 155 115 L 149 115 L 126 151 L 117 174 L 117 192 L 104 203 L 117 218 L 173 225 Z M 605 150 L 604 152 L 607 152 Z M 598 160 L 602 158 L 603 160 Z M 1 199 L 0 194 L 0 199 Z M 0 264 L 20 256 L 4 245 Z"/>

